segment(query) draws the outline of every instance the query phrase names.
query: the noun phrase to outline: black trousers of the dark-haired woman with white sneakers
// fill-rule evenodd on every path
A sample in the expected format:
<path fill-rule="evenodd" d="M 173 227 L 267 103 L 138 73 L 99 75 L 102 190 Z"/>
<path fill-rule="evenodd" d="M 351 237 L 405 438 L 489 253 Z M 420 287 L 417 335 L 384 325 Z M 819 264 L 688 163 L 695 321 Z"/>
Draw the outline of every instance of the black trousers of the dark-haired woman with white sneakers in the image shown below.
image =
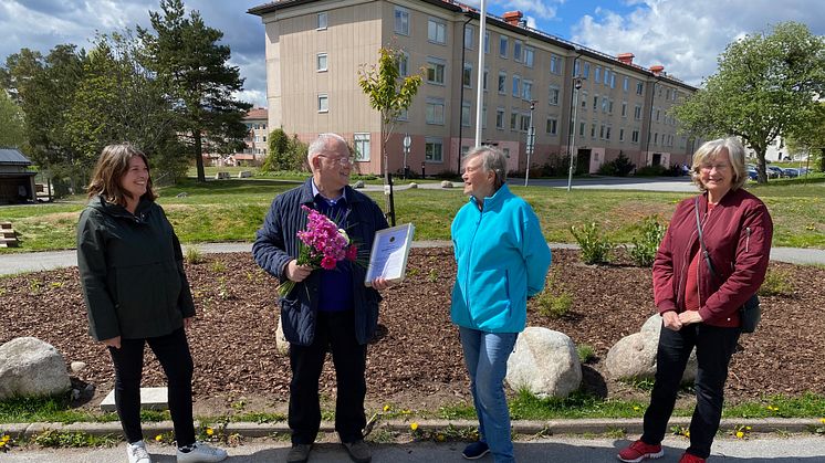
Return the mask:
<path fill-rule="evenodd" d="M 140 377 L 144 344 L 148 343 L 164 368 L 169 390 L 169 412 L 178 446 L 195 443 L 192 423 L 192 356 L 180 328 L 170 335 L 146 339 L 121 339 L 121 348 L 109 347 L 115 365 L 115 406 L 123 433 L 129 442 L 143 439 L 140 429 Z"/>

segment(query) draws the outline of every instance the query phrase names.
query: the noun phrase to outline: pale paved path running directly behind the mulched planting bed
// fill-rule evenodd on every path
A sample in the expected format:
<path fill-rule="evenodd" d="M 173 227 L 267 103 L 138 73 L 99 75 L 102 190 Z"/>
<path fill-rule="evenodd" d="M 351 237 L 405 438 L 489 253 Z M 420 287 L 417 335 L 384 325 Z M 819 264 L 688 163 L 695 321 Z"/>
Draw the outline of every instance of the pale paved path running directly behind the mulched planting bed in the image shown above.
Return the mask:
<path fill-rule="evenodd" d="M 251 243 L 192 244 L 203 253 L 251 252 Z M 412 248 L 440 248 L 452 245 L 449 241 L 416 241 Z M 550 243 L 552 249 L 578 249 L 575 244 Z M 186 248 L 186 246 L 185 246 Z M 825 250 L 801 248 L 772 248 L 771 260 L 792 264 L 825 265 Z M 0 254 L 0 275 L 39 272 L 77 265 L 75 251 L 45 251 Z"/>

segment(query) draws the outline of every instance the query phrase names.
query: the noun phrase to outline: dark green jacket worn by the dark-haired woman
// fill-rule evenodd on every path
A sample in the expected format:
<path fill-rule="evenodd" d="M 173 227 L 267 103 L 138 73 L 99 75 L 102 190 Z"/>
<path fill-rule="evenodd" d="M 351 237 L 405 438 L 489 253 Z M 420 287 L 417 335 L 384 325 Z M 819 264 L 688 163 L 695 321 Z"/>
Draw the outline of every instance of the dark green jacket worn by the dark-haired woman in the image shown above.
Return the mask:
<path fill-rule="evenodd" d="M 77 267 L 95 340 L 165 336 L 195 316 L 180 242 L 164 210 L 93 198 L 77 223 Z"/>

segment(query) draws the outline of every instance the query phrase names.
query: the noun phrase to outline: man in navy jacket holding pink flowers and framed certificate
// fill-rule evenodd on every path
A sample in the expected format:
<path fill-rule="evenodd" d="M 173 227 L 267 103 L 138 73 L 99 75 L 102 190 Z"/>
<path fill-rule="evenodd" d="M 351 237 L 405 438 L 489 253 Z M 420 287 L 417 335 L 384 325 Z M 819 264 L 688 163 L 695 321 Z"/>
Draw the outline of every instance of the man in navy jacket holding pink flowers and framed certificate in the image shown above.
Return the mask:
<path fill-rule="evenodd" d="M 332 352 L 337 381 L 335 431 L 353 461 L 370 461 L 362 430 L 366 425 L 366 345 L 378 324 L 380 295 L 389 283 L 376 278 L 364 285 L 366 269 L 346 260 L 336 269 L 299 265 L 297 232 L 306 224 L 302 206 L 317 210 L 346 230 L 358 254 L 373 246 L 375 232 L 387 228 L 380 208 L 349 187 L 353 160 L 340 135 L 321 134 L 309 149 L 312 177 L 275 197 L 258 231 L 252 255 L 281 283 L 295 286 L 280 298 L 281 325 L 290 343 L 289 424 L 292 449 L 288 462 L 305 462 L 321 425 L 318 380 L 326 351 Z"/>

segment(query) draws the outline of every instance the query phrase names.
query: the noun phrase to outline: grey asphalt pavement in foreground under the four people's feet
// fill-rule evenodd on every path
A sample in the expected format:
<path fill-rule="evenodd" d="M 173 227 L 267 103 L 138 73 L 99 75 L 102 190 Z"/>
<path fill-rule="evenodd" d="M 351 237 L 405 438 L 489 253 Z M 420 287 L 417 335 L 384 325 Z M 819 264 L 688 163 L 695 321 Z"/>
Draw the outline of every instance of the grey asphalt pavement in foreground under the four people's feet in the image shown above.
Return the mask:
<path fill-rule="evenodd" d="M 556 436 L 515 443 L 515 456 L 521 462 L 534 463 L 614 463 L 618 449 L 627 440 L 581 439 Z M 660 463 L 676 463 L 687 446 L 685 439 L 665 440 L 665 456 Z M 228 463 L 280 462 L 288 452 L 286 442 L 252 441 L 228 449 Z M 414 442 L 404 444 L 373 445 L 373 462 L 383 463 L 447 463 L 466 461 L 461 457 L 463 442 L 436 444 Z M 154 443 L 148 445 L 156 463 L 174 463 L 174 449 Z M 825 461 L 825 436 L 790 435 L 786 438 L 756 436 L 749 440 L 718 439 L 713 444 L 711 462 L 727 463 L 822 463 Z M 111 449 L 65 449 L 12 451 L 0 459 L 8 463 L 61 462 L 61 463 L 111 463 L 125 461 L 125 446 Z M 345 451 L 337 443 L 316 444 L 310 456 L 311 463 L 348 462 Z M 478 460 L 492 461 L 490 456 Z"/>

